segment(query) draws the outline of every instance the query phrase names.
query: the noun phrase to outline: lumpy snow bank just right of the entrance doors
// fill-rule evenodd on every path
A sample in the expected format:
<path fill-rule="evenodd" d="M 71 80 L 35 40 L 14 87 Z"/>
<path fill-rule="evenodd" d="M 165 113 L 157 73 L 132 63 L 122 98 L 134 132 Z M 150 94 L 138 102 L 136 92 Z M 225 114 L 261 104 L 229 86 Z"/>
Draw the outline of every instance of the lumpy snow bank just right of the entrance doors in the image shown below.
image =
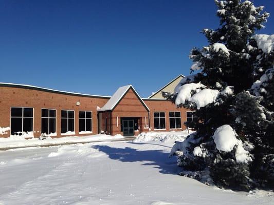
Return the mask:
<path fill-rule="evenodd" d="M 193 131 L 189 132 L 192 133 Z M 178 132 L 142 132 L 134 139 L 134 142 L 159 141 L 163 143 L 174 143 L 174 141 L 184 141 L 188 135 L 187 130 Z"/>

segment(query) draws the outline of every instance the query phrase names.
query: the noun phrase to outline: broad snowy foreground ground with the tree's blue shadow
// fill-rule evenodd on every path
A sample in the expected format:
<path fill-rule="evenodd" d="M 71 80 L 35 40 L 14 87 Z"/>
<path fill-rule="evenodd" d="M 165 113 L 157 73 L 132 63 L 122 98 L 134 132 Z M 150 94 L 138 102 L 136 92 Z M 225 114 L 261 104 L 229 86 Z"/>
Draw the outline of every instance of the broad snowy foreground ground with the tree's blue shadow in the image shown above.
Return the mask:
<path fill-rule="evenodd" d="M 274 203 L 272 192 L 221 190 L 179 176 L 168 157 L 173 139 L 145 140 L 2 151 L 0 204 Z"/>

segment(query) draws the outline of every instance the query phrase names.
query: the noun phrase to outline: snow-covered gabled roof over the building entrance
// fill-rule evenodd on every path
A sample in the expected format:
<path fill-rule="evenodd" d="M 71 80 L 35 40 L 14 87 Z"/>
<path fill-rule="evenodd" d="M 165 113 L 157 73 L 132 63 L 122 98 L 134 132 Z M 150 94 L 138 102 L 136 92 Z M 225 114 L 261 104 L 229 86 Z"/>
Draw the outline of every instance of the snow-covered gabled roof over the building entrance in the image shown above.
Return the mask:
<path fill-rule="evenodd" d="M 142 98 L 140 97 L 140 95 L 136 92 L 136 90 L 133 88 L 132 85 L 127 85 L 127 86 L 123 86 L 118 88 L 118 90 L 113 94 L 113 96 L 111 97 L 111 99 L 109 99 L 107 101 L 107 103 L 100 109 L 98 109 L 98 112 L 101 111 L 113 111 L 114 108 L 119 104 L 119 102 L 121 101 L 121 99 L 125 96 L 125 94 L 127 93 L 127 91 L 129 91 L 130 89 L 133 90 L 133 92 L 136 94 L 136 96 L 138 97 L 138 99 L 141 101 L 142 105 L 145 107 L 145 109 L 147 109 L 148 111 L 150 111 L 149 107 L 147 105 L 145 105 L 144 101 L 142 100 Z"/>

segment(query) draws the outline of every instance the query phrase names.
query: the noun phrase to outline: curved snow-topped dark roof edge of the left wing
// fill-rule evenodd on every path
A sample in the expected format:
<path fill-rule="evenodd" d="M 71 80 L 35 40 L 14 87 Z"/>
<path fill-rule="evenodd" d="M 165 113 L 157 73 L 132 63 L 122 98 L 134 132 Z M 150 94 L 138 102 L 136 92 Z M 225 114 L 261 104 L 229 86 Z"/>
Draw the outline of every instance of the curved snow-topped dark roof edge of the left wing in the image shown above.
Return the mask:
<path fill-rule="evenodd" d="M 59 94 L 68 94 L 68 95 L 78 95 L 78 96 L 86 96 L 86 97 L 102 97 L 102 98 L 110 98 L 111 96 L 104 96 L 104 95 L 89 95 L 89 94 L 82 94 L 82 93 L 75 93 L 75 92 L 67 92 L 61 90 L 53 90 L 49 88 L 42 88 L 37 86 L 31 85 L 23 85 L 23 84 L 12 84 L 12 83 L 0 83 L 0 87 L 14 87 L 14 88 L 25 88 L 25 89 L 32 89 L 32 90 L 39 90 L 39 91 L 46 91 L 46 92 L 53 92 Z"/>

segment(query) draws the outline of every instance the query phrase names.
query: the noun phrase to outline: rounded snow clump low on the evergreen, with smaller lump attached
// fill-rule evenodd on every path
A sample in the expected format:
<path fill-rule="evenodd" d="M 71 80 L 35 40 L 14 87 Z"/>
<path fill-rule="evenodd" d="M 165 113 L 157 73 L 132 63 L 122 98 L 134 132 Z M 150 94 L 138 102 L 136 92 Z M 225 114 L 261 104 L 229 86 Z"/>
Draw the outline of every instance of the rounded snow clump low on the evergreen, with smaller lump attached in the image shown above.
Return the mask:
<path fill-rule="evenodd" d="M 248 161 L 252 161 L 249 152 L 243 147 L 243 142 L 237 139 L 236 135 L 235 131 L 229 125 L 218 127 L 213 135 L 217 150 L 231 152 L 236 146 L 235 157 L 237 162 L 247 163 Z M 247 146 L 245 147 L 248 148 Z"/>

